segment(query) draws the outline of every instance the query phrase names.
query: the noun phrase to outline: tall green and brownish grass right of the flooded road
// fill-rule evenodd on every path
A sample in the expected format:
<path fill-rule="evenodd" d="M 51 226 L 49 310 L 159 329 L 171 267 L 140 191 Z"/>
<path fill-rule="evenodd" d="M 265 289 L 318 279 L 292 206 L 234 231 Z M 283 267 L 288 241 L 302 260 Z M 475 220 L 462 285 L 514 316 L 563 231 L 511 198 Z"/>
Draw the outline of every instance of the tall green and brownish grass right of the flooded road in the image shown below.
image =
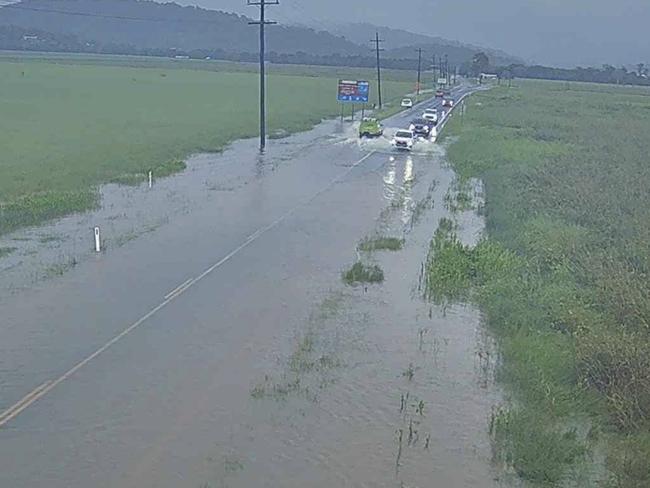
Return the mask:
<path fill-rule="evenodd" d="M 500 340 L 498 460 L 537 485 L 648 487 L 650 91 L 517 85 L 447 126 L 488 236 L 468 248 L 443 222 L 429 293 L 475 301 Z"/>

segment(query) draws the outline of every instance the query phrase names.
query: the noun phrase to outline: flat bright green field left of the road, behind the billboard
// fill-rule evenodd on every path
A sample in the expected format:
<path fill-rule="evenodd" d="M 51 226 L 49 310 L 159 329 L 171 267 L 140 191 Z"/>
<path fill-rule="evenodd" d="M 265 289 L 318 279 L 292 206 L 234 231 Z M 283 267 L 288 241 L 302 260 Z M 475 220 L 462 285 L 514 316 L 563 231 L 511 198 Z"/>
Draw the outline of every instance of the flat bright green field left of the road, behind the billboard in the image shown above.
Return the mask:
<path fill-rule="evenodd" d="M 138 181 L 149 169 L 165 176 L 191 153 L 258 134 L 253 66 L 181 63 L 0 55 L 0 234 L 92 208 L 98 184 Z M 272 72 L 271 136 L 337 115 L 338 76 L 355 74 L 296 66 Z M 388 78 L 388 100 L 413 86 Z"/>

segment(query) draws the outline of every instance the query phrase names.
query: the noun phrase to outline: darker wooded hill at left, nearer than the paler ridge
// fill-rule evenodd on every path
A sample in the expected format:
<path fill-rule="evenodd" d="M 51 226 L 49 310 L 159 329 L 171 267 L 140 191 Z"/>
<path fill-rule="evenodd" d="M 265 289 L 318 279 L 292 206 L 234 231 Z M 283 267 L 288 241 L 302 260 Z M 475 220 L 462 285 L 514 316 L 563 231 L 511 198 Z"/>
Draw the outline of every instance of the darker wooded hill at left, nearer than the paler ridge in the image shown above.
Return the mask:
<path fill-rule="evenodd" d="M 137 50 L 227 49 L 257 51 L 250 19 L 226 12 L 182 7 L 148 0 L 23 0 L 0 9 L 0 26 L 33 29 L 100 46 L 132 46 Z M 269 46 L 278 53 L 306 51 L 360 54 L 351 41 L 306 27 L 273 26 Z"/>

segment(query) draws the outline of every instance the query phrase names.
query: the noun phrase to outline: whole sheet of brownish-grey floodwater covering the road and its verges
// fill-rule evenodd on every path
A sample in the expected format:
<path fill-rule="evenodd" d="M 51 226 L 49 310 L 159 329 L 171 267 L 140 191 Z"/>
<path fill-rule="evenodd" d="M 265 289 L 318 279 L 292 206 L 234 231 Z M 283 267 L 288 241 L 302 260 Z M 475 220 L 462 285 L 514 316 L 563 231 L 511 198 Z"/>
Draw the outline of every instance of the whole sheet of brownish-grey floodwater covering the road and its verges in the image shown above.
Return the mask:
<path fill-rule="evenodd" d="M 444 151 L 337 127 L 197 156 L 26 232 L 147 229 L 48 279 L 2 273 L 0 486 L 498 486 L 492 342 L 476 310 L 421 299 Z M 358 251 L 373 235 L 404 248 Z M 385 282 L 344 285 L 357 259 Z"/>

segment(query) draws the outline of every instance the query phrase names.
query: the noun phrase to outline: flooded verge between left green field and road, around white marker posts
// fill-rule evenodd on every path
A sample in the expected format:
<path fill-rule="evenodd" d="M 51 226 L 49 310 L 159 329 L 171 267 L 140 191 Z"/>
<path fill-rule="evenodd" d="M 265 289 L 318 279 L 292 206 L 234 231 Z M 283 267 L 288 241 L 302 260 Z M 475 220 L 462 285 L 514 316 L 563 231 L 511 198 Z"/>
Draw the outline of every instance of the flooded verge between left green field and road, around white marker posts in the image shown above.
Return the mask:
<path fill-rule="evenodd" d="M 168 224 L 181 215 L 209 208 L 280 166 L 288 166 L 315 145 L 341 142 L 339 124 L 323 123 L 313 131 L 275 141 L 273 152 L 260 156 L 254 140 L 235 142 L 221 154 L 198 154 L 182 174 L 135 186 L 100 187 L 101 208 L 52 223 L 0 236 L 0 301 L 3 295 L 62 275 L 94 254 L 95 226 L 104 252 Z"/>

